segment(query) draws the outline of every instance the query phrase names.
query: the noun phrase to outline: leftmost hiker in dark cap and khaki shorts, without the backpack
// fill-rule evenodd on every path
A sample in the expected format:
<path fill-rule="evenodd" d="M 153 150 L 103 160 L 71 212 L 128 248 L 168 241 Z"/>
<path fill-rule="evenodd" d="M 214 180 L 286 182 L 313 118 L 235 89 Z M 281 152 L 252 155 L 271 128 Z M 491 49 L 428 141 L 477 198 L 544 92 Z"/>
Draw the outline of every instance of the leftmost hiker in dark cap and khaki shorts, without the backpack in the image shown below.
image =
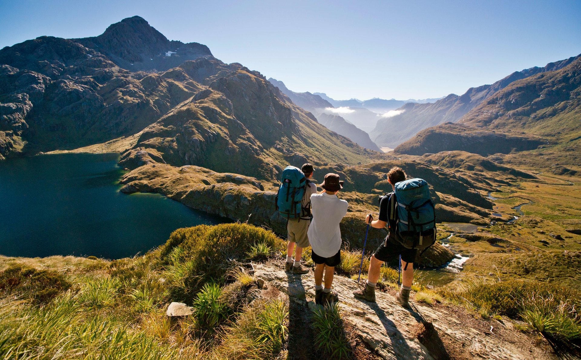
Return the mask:
<path fill-rule="evenodd" d="M 309 246 L 309 237 L 307 229 L 311 224 L 311 195 L 317 193 L 317 185 L 310 182 L 315 171 L 312 164 L 304 164 L 300 169 L 306 178 L 303 200 L 301 201 L 300 217 L 289 218 L 286 224 L 288 232 L 288 246 L 286 247 L 285 271 L 290 271 L 295 275 L 302 275 L 309 272 L 309 269 L 300 264 L 300 257 L 303 255 L 303 248 Z M 296 244 L 296 247 L 295 247 Z M 293 261 L 292 252 L 295 250 L 295 260 Z"/>

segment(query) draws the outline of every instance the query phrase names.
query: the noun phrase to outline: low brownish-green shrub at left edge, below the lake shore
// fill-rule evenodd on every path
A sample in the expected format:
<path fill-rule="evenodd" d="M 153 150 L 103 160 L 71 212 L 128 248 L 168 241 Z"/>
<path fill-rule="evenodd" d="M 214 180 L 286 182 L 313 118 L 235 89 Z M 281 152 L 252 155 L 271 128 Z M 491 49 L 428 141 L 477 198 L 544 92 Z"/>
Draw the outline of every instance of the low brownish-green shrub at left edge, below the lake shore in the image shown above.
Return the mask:
<path fill-rule="evenodd" d="M 35 304 L 48 303 L 71 286 L 64 275 L 51 270 L 12 265 L 0 272 L 0 291 L 30 298 Z"/>

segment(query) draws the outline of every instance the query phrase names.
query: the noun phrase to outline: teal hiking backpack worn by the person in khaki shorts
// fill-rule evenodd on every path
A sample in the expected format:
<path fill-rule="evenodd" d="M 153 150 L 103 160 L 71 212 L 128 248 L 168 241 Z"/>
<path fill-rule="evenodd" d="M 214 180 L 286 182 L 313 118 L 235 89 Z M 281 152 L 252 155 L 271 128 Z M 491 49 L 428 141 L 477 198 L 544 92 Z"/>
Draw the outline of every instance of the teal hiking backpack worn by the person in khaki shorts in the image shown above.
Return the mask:
<path fill-rule="evenodd" d="M 289 165 L 282 171 L 276 198 L 277 210 L 282 217 L 300 219 L 306 186 L 307 178 L 299 168 Z"/>

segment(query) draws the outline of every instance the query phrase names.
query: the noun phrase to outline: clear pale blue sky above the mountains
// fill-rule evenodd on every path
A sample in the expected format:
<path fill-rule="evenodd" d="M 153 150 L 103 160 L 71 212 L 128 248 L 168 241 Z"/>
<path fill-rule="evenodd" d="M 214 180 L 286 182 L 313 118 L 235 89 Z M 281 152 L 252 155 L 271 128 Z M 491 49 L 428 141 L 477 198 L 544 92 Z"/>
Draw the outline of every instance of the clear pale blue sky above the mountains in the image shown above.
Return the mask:
<path fill-rule="evenodd" d="M 139 15 L 293 91 L 435 98 L 581 53 L 581 1 L 7 1 L 0 47 Z"/>

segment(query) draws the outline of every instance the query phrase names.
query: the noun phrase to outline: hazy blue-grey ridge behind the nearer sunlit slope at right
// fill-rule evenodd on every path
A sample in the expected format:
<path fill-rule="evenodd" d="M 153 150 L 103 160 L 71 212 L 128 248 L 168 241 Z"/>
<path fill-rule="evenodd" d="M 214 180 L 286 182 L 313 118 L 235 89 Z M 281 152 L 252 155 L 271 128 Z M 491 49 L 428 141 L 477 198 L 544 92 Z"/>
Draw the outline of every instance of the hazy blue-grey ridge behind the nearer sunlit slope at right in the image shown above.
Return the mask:
<path fill-rule="evenodd" d="M 547 71 L 555 71 L 571 64 L 575 57 L 548 63 L 544 67 L 531 67 L 515 71 L 492 85 L 482 85 L 470 88 L 463 95 L 450 94 L 434 103 L 407 103 L 397 109 L 399 113 L 384 117 L 377 122 L 371 134 L 371 139 L 379 146 L 396 147 L 412 138 L 419 131 L 447 121 L 456 122 L 485 100 L 490 99 L 501 89 L 512 82 L 531 77 Z"/>

